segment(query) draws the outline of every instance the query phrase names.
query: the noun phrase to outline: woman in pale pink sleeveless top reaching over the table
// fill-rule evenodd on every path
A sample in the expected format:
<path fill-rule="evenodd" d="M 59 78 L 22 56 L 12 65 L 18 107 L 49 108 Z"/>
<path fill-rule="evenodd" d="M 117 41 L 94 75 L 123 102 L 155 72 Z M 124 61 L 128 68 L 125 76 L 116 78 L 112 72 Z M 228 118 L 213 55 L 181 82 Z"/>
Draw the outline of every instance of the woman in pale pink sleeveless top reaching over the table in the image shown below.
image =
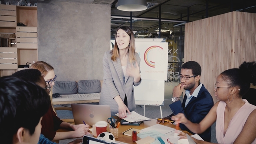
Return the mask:
<path fill-rule="evenodd" d="M 239 69 L 228 69 L 217 77 L 214 96 L 219 101 L 199 124 L 187 120 L 184 114 L 172 116 L 171 119 L 175 123 L 185 124 L 190 131 L 197 134 L 216 121 L 218 143 L 256 144 L 256 106 L 242 99 L 251 83 L 256 85 L 256 64 L 243 62 Z M 197 144 L 210 144 L 194 138 L 193 140 Z"/>

